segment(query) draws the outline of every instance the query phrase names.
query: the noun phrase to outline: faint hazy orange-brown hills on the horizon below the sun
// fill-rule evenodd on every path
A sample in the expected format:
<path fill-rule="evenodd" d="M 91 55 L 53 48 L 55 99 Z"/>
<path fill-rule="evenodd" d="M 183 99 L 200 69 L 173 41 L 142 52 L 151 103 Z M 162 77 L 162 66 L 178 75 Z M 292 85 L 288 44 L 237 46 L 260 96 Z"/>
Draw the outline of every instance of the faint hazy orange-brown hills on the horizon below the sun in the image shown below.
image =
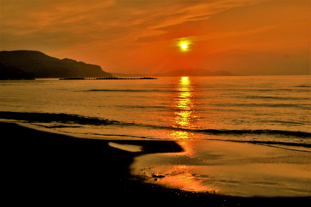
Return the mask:
<path fill-rule="evenodd" d="M 218 70 L 211 72 L 205 69 L 190 69 L 190 70 L 174 70 L 166 73 L 156 74 L 124 74 L 124 73 L 111 73 L 115 77 L 183 77 L 183 76 L 239 76 L 232 74 L 226 70 Z"/>

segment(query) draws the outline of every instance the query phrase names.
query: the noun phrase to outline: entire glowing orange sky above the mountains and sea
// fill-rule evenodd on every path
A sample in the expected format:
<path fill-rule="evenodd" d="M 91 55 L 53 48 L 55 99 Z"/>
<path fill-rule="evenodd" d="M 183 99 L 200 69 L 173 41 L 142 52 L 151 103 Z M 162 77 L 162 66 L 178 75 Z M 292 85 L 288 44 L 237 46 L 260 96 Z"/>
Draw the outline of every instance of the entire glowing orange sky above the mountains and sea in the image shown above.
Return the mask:
<path fill-rule="evenodd" d="M 310 74 L 310 2 L 1 0 L 0 50 L 37 50 L 115 73 Z"/>

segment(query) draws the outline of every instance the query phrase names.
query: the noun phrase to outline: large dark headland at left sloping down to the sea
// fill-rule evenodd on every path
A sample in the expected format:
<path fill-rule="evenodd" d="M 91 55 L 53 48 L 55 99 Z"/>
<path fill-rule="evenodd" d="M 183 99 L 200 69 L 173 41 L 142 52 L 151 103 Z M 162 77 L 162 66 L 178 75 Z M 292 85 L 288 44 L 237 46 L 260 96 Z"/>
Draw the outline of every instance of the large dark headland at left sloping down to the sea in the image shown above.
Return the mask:
<path fill-rule="evenodd" d="M 0 63 L 5 68 L 17 68 L 33 78 L 106 78 L 113 77 L 99 65 L 86 64 L 72 59 L 58 59 L 39 51 L 1 51 Z"/>

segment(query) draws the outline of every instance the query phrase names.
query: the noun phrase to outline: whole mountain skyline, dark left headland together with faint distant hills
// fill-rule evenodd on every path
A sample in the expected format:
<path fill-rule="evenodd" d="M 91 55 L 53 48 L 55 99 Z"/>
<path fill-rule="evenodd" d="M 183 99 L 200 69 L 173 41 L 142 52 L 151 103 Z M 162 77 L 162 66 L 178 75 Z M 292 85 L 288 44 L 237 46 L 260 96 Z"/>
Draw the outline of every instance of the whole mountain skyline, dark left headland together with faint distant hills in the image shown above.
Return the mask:
<path fill-rule="evenodd" d="M 0 66 L 0 79 L 239 76 L 225 70 L 211 72 L 205 69 L 174 70 L 157 74 L 108 73 L 99 65 L 69 58 L 61 60 L 32 50 L 0 51 Z"/>

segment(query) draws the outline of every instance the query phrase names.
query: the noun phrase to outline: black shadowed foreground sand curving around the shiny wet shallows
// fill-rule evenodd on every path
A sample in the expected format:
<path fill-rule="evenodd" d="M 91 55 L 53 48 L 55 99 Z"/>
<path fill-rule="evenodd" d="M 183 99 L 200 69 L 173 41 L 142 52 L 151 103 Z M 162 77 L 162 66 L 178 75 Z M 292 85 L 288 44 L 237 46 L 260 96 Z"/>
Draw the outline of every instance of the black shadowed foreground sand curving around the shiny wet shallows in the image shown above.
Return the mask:
<path fill-rule="evenodd" d="M 130 152 L 111 140 L 85 139 L 0 122 L 4 166 L 2 196 L 10 205 L 304 206 L 310 197 L 232 197 L 146 183 L 133 176 L 134 157 L 182 148 L 167 140 L 113 140 L 143 146 Z"/>

